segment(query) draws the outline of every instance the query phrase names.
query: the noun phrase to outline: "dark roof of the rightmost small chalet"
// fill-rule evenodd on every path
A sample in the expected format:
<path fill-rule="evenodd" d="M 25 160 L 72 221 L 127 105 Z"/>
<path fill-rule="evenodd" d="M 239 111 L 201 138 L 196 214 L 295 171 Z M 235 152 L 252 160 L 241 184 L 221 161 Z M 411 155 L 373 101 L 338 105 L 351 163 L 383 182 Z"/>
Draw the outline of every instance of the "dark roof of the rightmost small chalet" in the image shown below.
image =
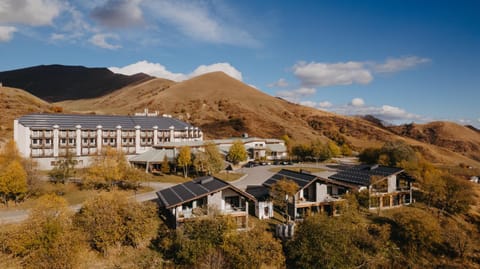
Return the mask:
<path fill-rule="evenodd" d="M 402 168 L 380 165 L 356 165 L 329 176 L 329 179 L 343 181 L 355 185 L 369 186 L 373 176 L 389 177 L 402 172 Z"/>

